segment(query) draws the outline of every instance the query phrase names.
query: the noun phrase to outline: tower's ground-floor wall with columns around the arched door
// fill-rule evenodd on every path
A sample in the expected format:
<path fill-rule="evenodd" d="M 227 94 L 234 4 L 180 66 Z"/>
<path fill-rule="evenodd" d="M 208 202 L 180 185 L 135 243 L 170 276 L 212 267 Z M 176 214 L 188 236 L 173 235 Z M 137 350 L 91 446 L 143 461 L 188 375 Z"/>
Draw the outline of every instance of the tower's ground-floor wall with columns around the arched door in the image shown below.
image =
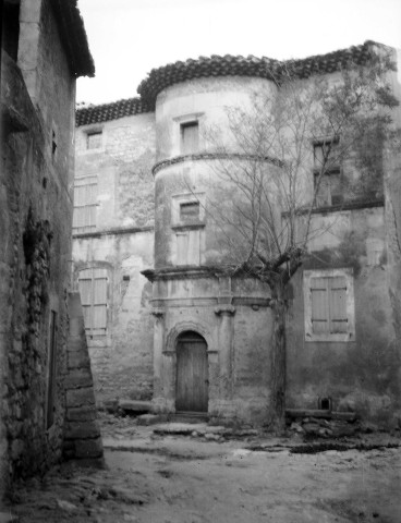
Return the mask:
<path fill-rule="evenodd" d="M 271 327 L 267 290 L 246 278 L 190 271 L 154 283 L 155 411 L 175 412 L 177 338 L 195 330 L 208 351 L 208 414 L 257 424 L 266 417 Z M 257 365 L 255 365 L 257 362 Z"/>

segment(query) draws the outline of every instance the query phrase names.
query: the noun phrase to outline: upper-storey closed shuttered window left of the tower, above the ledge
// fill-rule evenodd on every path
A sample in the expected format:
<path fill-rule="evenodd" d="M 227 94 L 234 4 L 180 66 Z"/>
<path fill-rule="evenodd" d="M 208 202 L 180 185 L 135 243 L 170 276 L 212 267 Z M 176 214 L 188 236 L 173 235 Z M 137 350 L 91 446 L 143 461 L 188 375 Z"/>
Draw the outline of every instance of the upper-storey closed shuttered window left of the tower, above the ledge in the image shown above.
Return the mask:
<path fill-rule="evenodd" d="M 75 179 L 73 232 L 96 229 L 97 177 Z"/>

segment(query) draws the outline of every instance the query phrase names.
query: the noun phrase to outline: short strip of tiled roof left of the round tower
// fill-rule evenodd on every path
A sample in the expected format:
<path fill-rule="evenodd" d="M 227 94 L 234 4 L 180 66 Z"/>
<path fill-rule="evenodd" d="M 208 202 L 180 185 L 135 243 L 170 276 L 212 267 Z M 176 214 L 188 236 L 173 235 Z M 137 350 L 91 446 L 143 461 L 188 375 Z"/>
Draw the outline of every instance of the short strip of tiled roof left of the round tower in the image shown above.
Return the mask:
<path fill-rule="evenodd" d="M 108 122 L 118 118 L 131 117 L 150 112 L 153 109 L 141 98 L 126 98 L 101 106 L 89 106 L 77 109 L 75 113 L 76 126 L 89 125 L 90 123 Z"/>

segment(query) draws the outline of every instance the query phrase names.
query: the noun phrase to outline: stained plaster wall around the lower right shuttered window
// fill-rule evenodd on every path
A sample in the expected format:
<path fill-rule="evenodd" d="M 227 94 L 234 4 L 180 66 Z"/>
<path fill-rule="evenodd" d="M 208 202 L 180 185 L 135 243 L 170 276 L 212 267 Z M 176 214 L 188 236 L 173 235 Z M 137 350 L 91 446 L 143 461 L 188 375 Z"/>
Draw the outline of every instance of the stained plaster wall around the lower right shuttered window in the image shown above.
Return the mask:
<path fill-rule="evenodd" d="M 314 241 L 303 265 L 304 270 L 352 268 L 355 341 L 305 341 L 302 269 L 295 275 L 288 321 L 289 408 L 317 408 L 319 397 L 330 397 L 336 410 L 382 421 L 400 409 L 400 348 L 391 317 L 384 218 L 382 207 L 332 214 L 335 229 Z M 315 221 L 324 219 L 316 215 Z"/>

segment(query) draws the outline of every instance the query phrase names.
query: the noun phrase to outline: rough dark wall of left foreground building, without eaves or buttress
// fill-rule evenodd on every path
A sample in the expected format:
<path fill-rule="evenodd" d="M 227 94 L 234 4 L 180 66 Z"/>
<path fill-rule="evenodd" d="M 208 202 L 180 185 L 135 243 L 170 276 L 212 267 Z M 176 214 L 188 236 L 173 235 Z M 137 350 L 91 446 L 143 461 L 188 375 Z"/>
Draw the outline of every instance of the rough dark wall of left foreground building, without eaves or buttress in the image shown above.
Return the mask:
<path fill-rule="evenodd" d="M 40 3 L 21 2 L 17 63 L 2 53 L 0 336 L 5 482 L 44 471 L 59 460 L 63 437 L 75 78 L 50 5 Z M 24 64 L 31 59 L 35 64 L 28 73 Z M 39 69 L 41 82 L 36 75 Z M 59 132 L 53 135 L 54 129 Z"/>

